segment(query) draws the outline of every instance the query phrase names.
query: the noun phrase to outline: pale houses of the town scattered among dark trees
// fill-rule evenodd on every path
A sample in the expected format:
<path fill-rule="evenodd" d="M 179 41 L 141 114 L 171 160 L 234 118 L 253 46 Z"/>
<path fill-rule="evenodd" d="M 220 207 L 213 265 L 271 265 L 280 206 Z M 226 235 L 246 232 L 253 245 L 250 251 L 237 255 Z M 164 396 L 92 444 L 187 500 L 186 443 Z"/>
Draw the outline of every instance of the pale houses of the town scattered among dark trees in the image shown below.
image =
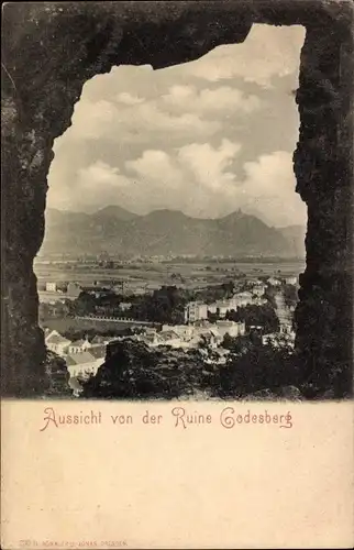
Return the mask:
<path fill-rule="evenodd" d="M 278 279 L 270 277 L 267 285 L 279 286 L 281 284 L 297 285 L 296 277 Z M 217 364 L 225 362 L 225 355 L 229 353 L 222 348 L 222 341 L 226 334 L 230 337 L 242 337 L 245 334 L 245 323 L 226 320 L 226 312 L 236 310 L 239 307 L 247 305 L 262 306 L 267 300 L 264 297 L 267 285 L 261 280 L 248 280 L 247 290 L 234 294 L 232 298 L 219 300 L 213 304 L 201 301 L 191 301 L 185 308 L 185 324 L 166 324 L 161 329 L 144 328 L 140 333 L 132 334 L 130 338 L 144 342 L 148 348 L 170 346 L 173 349 L 199 348 L 209 350 L 209 359 Z M 48 287 L 55 292 L 54 286 Z M 69 283 L 67 293 L 70 296 L 78 296 L 81 287 L 75 283 Z M 279 295 L 280 296 L 280 295 Z M 285 308 L 284 301 L 279 298 L 278 309 L 280 320 L 280 336 L 288 343 L 294 343 L 295 333 L 291 327 L 290 312 Z M 130 304 L 126 304 L 128 308 Z M 209 314 L 218 314 L 219 320 L 210 322 Z M 262 327 L 258 327 L 262 329 Z M 70 341 L 63 337 L 57 330 L 45 329 L 45 344 L 48 350 L 55 352 L 65 359 L 70 378 L 96 374 L 98 367 L 104 362 L 107 345 L 113 340 L 120 341 L 126 339 L 126 336 L 108 338 L 96 336 L 91 341 L 87 338 L 77 341 Z M 263 343 L 279 342 L 279 334 L 263 334 Z M 212 356 L 210 355 L 212 354 Z"/>

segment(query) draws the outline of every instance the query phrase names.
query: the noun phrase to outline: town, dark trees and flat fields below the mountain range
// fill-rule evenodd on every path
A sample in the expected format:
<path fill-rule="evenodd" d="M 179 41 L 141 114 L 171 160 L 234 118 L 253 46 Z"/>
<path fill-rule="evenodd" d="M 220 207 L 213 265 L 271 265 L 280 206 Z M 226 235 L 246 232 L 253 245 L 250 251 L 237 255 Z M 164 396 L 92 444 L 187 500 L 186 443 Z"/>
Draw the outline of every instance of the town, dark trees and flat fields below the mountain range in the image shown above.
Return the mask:
<path fill-rule="evenodd" d="M 226 398 L 233 384 L 242 396 L 262 389 L 248 353 L 276 370 L 292 354 L 301 260 L 103 253 L 38 257 L 35 271 L 51 369 L 77 397 Z M 244 387 L 230 386 L 234 362 Z"/>

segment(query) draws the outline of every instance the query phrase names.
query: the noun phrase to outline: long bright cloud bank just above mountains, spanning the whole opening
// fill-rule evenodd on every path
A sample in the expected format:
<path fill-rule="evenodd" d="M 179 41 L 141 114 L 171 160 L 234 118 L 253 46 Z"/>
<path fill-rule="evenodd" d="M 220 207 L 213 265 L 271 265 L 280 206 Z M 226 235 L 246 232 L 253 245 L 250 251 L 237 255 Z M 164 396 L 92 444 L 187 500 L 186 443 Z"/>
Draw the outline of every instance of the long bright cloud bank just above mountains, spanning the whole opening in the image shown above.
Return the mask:
<path fill-rule="evenodd" d="M 233 168 L 242 152 L 239 143 L 223 139 L 218 146 L 190 143 L 170 153 L 145 150 L 120 167 L 96 161 L 78 168 L 59 188 L 51 185 L 48 205 L 86 210 L 120 205 L 137 213 L 158 208 L 189 216 L 218 218 L 239 208 L 273 226 L 305 223 L 306 205 L 295 193 L 291 154 L 276 151 L 243 165 L 243 177 Z M 52 175 L 54 183 L 64 173 Z"/>

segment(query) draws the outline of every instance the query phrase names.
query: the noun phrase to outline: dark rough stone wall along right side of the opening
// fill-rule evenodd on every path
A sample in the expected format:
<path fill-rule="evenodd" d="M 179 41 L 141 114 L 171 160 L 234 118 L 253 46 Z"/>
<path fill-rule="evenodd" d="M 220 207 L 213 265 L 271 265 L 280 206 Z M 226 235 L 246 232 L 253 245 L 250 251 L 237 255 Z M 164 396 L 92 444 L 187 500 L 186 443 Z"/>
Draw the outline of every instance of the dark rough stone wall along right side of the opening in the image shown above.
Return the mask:
<path fill-rule="evenodd" d="M 308 26 L 297 94 L 294 160 L 308 231 L 296 322 L 302 382 L 341 397 L 353 381 L 353 19 L 324 30 L 320 20 Z"/>

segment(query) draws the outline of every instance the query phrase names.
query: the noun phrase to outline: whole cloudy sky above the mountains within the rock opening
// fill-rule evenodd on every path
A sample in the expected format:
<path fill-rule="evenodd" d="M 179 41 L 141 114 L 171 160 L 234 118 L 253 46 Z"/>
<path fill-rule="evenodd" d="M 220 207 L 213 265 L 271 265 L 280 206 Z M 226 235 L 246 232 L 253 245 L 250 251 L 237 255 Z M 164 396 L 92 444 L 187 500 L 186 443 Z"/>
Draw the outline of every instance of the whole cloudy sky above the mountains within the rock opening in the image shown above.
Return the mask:
<path fill-rule="evenodd" d="M 82 88 L 54 142 L 47 207 L 220 218 L 241 209 L 305 224 L 295 193 L 300 25 L 253 25 L 242 44 L 154 70 L 112 67 Z"/>

